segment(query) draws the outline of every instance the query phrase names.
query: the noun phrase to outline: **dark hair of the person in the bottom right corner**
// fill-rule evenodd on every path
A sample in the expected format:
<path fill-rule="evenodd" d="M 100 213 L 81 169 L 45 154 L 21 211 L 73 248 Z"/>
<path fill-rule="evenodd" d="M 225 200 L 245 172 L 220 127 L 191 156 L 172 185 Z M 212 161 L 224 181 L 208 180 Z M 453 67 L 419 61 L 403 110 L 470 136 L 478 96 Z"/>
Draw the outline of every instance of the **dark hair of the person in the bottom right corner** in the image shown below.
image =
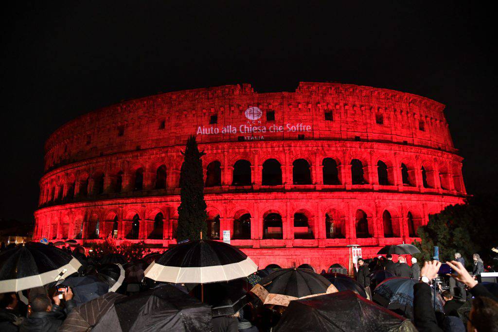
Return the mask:
<path fill-rule="evenodd" d="M 498 303 L 478 296 L 472 301 L 471 322 L 478 332 L 498 332 Z"/>

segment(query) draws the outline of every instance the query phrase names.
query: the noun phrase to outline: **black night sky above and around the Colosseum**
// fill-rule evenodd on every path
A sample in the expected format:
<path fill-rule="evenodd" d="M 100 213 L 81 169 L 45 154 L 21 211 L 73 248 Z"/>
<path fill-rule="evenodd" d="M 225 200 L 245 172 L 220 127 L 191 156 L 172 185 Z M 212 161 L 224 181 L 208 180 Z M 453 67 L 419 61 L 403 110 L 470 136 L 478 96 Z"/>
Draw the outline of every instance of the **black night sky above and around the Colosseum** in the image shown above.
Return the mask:
<path fill-rule="evenodd" d="M 1 14 L 0 218 L 33 221 L 43 144 L 65 122 L 121 100 L 237 83 L 272 92 L 338 81 L 434 99 L 447 106 L 467 191 L 497 188 L 496 14 L 485 6 L 10 2 Z"/>

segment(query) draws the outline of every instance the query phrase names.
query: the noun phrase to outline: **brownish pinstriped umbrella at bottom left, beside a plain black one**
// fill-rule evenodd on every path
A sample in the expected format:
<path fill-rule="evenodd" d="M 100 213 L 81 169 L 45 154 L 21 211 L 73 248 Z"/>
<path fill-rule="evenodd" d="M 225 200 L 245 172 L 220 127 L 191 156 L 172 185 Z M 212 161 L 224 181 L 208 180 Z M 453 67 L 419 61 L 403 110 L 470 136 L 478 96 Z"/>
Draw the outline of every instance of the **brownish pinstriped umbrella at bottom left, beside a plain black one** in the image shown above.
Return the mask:
<path fill-rule="evenodd" d="M 91 330 L 99 319 L 113 306 L 116 300 L 126 296 L 109 292 L 96 299 L 74 308 L 59 328 L 60 332 L 87 332 Z"/>

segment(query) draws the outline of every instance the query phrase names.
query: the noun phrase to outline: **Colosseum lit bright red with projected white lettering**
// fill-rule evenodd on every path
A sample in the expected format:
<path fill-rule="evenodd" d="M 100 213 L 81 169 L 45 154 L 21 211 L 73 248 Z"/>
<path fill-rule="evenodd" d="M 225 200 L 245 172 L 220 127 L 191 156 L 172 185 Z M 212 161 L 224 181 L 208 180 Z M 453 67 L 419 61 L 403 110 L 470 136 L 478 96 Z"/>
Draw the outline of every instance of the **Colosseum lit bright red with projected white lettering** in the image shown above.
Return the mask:
<path fill-rule="evenodd" d="M 430 214 L 466 197 L 444 105 L 397 91 L 249 84 L 122 102 L 76 118 L 45 144 L 34 237 L 82 245 L 112 235 L 176 243 L 181 155 L 196 135 L 208 235 L 260 268 L 349 262 L 411 243 Z"/>

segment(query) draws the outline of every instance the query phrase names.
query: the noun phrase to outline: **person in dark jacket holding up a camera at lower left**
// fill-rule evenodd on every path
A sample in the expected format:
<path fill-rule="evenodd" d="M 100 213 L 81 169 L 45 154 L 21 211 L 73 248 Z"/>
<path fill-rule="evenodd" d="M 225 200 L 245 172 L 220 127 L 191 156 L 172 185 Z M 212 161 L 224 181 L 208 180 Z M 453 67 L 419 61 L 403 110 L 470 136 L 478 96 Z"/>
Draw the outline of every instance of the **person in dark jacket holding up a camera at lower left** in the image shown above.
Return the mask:
<path fill-rule="evenodd" d="M 66 300 L 66 311 L 70 313 L 76 306 L 73 299 L 73 292 L 71 288 L 64 292 L 63 298 Z M 20 332 L 56 332 L 66 319 L 66 313 L 60 307 L 61 300 L 59 294 L 52 298 L 54 305 L 50 298 L 44 294 L 35 296 L 31 300 L 31 315 L 26 318 L 21 326 Z"/>

